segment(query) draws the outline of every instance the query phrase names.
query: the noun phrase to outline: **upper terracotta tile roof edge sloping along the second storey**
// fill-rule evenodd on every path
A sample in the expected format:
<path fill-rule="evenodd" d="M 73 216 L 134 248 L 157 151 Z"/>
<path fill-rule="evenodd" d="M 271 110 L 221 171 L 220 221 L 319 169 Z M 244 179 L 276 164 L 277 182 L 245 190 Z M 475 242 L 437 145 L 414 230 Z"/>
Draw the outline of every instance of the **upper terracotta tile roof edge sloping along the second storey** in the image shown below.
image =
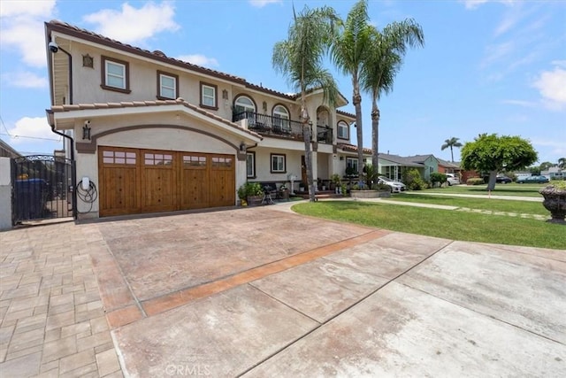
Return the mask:
<path fill-rule="evenodd" d="M 50 31 L 55 31 L 58 33 L 62 33 L 65 35 L 72 35 L 90 42 L 96 42 L 96 43 L 100 43 L 103 44 L 104 46 L 108 46 L 108 47 L 112 47 L 115 49 L 119 49 L 119 50 L 124 50 L 136 55 L 140 55 L 142 57 L 145 58 L 151 58 L 151 59 L 155 59 L 164 63 L 168 63 L 170 65 L 173 66 L 179 66 L 181 68 L 184 69 L 188 69 L 191 71 L 195 71 L 197 73 L 205 73 L 208 74 L 210 76 L 213 77 L 217 77 L 218 79 L 223 79 L 226 81 L 233 81 L 234 83 L 237 84 L 241 84 L 243 86 L 245 86 L 246 88 L 249 89 L 256 89 L 260 92 L 264 92 L 264 93 L 268 93 L 270 95 L 274 95 L 274 96 L 279 96 L 279 97 L 283 97 L 289 100 L 296 100 L 298 98 L 299 95 L 294 94 L 294 95 L 288 95 L 286 93 L 282 93 L 279 92 L 277 90 L 273 90 L 273 89 L 267 89 L 264 88 L 261 85 L 256 85 L 256 84 L 252 84 L 248 81 L 246 81 L 245 79 L 239 77 L 239 76 L 235 76 L 229 73 L 222 73 L 220 71 L 216 71 L 216 70 L 212 70 L 210 68 L 206 68 L 203 66 L 197 66 L 194 65 L 192 63 L 188 63 L 185 62 L 183 60 L 180 59 L 176 59 L 176 58 L 171 58 L 171 57 L 167 57 L 163 51 L 160 50 L 154 50 L 154 51 L 149 51 L 149 50 L 143 50 L 139 47 L 135 47 L 132 46 L 130 44 L 126 44 L 123 42 L 119 42 L 116 40 L 113 40 L 111 38 L 105 37 L 103 35 L 98 35 L 94 32 L 91 32 L 87 29 L 83 29 L 80 27 L 75 27 L 71 24 L 68 24 L 66 22 L 63 21 L 59 21 L 57 19 L 53 19 L 50 22 L 46 22 L 45 23 L 45 27 L 48 33 L 48 36 L 50 35 Z"/>

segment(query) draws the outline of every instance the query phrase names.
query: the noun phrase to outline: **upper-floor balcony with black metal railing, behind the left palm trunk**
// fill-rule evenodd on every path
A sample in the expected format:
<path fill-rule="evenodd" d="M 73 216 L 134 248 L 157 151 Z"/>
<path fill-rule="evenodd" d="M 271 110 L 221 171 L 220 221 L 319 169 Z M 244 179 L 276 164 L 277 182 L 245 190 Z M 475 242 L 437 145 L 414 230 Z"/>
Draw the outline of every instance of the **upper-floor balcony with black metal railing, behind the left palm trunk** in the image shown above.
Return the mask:
<path fill-rule="evenodd" d="M 260 135 L 303 141 L 302 123 L 296 120 L 285 120 L 256 112 L 241 112 L 233 115 L 233 122 L 248 120 L 249 130 Z M 317 126 L 317 141 L 319 143 L 333 143 L 333 130 L 330 127 Z"/>

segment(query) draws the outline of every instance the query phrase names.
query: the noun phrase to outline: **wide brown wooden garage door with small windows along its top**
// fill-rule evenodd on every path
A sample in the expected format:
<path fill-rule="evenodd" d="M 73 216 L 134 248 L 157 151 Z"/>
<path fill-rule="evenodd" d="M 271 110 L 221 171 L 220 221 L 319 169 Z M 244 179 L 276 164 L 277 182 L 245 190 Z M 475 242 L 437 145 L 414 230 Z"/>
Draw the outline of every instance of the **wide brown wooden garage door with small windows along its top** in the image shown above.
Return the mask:
<path fill-rule="evenodd" d="M 231 206 L 231 155 L 99 147 L 100 216 Z"/>

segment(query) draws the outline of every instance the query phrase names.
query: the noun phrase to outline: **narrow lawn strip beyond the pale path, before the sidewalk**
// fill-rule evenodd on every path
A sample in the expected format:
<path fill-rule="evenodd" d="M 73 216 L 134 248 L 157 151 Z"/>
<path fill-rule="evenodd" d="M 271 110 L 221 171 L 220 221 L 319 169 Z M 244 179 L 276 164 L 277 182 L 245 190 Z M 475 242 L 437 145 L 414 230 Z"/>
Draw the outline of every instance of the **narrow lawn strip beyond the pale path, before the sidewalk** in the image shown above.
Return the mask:
<path fill-rule="evenodd" d="M 516 201 L 509 199 L 469 198 L 469 197 L 448 197 L 448 196 L 427 196 L 425 194 L 401 193 L 391 198 L 384 198 L 384 201 L 394 200 L 402 202 L 417 202 L 419 204 L 445 204 L 449 206 L 467 207 L 470 209 L 491 210 L 493 212 L 519 212 L 526 214 L 550 215 L 544 208 L 542 202 Z M 444 193 L 444 192 L 443 192 Z M 542 198 L 542 196 L 539 195 Z M 566 231 L 566 230 L 565 230 Z"/>

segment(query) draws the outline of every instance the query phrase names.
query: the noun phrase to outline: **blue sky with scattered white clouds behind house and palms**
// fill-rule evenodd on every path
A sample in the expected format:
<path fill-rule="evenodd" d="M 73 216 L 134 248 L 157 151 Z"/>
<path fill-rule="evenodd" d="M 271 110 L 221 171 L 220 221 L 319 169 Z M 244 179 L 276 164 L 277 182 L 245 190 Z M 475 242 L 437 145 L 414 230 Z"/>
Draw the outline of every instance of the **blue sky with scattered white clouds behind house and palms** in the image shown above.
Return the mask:
<path fill-rule="evenodd" d="M 327 4 L 345 18 L 354 3 L 294 6 Z M 379 102 L 381 152 L 450 160 L 450 151 L 440 150 L 446 139 L 465 143 L 497 133 L 531 141 L 539 162 L 566 157 L 566 2 L 384 0 L 370 1 L 369 11 L 379 28 L 414 18 L 425 38 L 424 48 L 409 50 L 393 93 Z M 292 19 L 288 0 L 3 0 L 0 16 L 0 138 L 24 154 L 62 145 L 45 120 L 43 22 L 50 19 L 294 91 L 271 63 L 273 44 L 286 38 Z M 350 99 L 350 79 L 332 71 Z M 351 104 L 341 109 L 354 112 Z M 369 96 L 362 111 L 363 145 L 371 147 Z"/>

